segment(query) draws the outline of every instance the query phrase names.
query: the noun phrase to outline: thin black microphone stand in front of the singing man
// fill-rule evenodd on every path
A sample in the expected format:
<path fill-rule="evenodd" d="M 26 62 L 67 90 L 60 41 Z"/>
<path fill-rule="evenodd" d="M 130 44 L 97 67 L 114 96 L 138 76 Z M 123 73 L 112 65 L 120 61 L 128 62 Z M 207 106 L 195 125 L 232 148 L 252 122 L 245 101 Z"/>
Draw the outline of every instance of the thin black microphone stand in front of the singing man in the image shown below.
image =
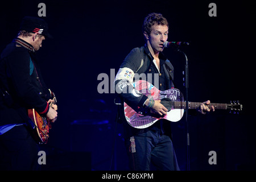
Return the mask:
<path fill-rule="evenodd" d="M 187 170 L 190 171 L 190 156 L 189 156 L 189 126 L 188 126 L 188 57 L 185 52 L 181 51 L 179 47 L 177 47 L 177 51 L 183 53 L 185 56 L 185 89 L 186 89 L 186 131 L 187 131 Z M 183 73 L 184 74 L 184 73 Z"/>

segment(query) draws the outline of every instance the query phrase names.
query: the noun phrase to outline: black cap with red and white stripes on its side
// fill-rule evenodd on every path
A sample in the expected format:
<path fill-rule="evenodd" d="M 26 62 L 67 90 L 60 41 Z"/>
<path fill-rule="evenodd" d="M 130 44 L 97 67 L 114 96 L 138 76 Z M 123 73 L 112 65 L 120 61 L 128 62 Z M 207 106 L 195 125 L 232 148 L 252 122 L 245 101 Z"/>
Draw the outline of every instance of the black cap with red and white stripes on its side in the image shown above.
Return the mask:
<path fill-rule="evenodd" d="M 19 30 L 25 30 L 27 32 L 42 34 L 47 38 L 52 38 L 48 32 L 48 24 L 42 18 L 37 18 L 33 16 L 25 16 L 22 19 Z"/>

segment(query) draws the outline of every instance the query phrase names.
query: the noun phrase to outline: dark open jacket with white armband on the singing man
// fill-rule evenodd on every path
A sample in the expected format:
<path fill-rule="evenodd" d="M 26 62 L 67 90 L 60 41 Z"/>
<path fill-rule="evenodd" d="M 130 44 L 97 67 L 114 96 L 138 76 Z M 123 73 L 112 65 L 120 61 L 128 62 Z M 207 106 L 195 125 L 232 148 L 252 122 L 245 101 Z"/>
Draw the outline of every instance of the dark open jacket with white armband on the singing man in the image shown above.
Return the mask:
<path fill-rule="evenodd" d="M 155 85 L 154 78 L 152 79 L 151 84 L 153 84 L 154 86 L 158 86 L 159 90 L 174 88 L 174 67 L 172 66 L 170 61 L 163 55 L 162 52 L 159 53 L 159 59 L 161 73 L 161 76 L 159 77 L 159 85 Z M 140 48 L 134 48 L 133 50 L 131 50 L 129 55 L 126 56 L 125 60 L 123 60 L 117 76 L 115 77 L 115 90 L 121 97 L 121 100 L 125 101 L 126 104 L 138 105 L 139 107 L 142 107 L 144 102 L 147 100 L 147 97 L 143 94 L 141 94 L 139 97 L 134 96 L 134 94 L 132 94 L 131 92 L 133 86 L 131 86 L 129 82 L 134 81 L 134 79 L 131 79 L 134 78 L 134 75 L 136 75 L 135 73 L 146 73 L 146 75 L 147 73 L 152 73 L 152 75 L 154 75 L 154 73 L 158 73 L 158 70 L 153 63 L 153 60 L 154 57 L 152 57 L 146 45 Z M 126 90 L 126 92 L 122 92 L 123 90 Z M 139 93 L 137 94 L 139 95 Z M 170 123 L 167 123 L 165 121 L 163 122 L 161 121 L 162 119 L 146 129 L 135 129 L 127 124 L 126 119 L 123 115 L 123 106 L 121 106 L 121 109 L 119 109 L 119 118 L 123 121 L 125 125 L 126 137 L 131 137 L 139 133 L 144 133 L 148 130 L 162 130 L 163 133 L 166 133 L 171 137 Z"/>

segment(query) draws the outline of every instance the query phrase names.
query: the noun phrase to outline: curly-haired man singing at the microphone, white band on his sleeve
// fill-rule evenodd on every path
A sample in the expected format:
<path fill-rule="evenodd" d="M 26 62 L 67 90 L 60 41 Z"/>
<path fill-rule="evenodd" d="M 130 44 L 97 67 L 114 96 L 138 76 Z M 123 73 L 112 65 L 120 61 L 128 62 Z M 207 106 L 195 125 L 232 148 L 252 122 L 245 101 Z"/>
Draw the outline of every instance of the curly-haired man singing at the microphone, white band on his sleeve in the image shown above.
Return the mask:
<path fill-rule="evenodd" d="M 134 48 L 123 60 L 115 77 L 115 90 L 129 106 L 145 107 L 152 113 L 166 115 L 168 109 L 160 100 L 153 100 L 139 93 L 132 84 L 135 73 L 144 73 L 146 81 L 150 77 L 151 84 L 159 90 L 174 87 L 174 68 L 162 53 L 163 43 L 168 38 L 166 18 L 162 14 L 148 14 L 143 23 L 143 35 L 146 44 L 141 48 Z M 209 103 L 210 101 L 206 101 L 199 106 L 201 113 L 214 111 L 214 107 L 207 106 Z M 131 169 L 150 170 L 152 163 L 159 170 L 179 170 L 170 137 L 170 123 L 160 119 L 150 127 L 136 129 L 123 121 L 123 126 Z"/>

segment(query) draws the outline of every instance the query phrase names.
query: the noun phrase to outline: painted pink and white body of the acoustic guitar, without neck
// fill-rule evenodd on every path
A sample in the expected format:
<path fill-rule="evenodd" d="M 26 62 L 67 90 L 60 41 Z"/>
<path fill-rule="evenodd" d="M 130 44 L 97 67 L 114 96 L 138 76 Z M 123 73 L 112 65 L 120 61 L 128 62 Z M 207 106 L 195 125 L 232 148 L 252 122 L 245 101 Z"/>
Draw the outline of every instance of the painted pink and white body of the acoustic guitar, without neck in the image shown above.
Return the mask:
<path fill-rule="evenodd" d="M 133 127 L 137 129 L 143 129 L 153 125 L 159 119 L 167 119 L 172 122 L 180 121 L 183 117 L 184 109 L 174 109 L 170 105 L 170 101 L 183 102 L 183 94 L 178 89 L 169 89 L 165 91 L 160 91 L 150 82 L 144 80 L 138 80 L 133 82 L 133 86 L 136 90 L 144 94 L 150 99 L 153 100 L 162 100 L 168 102 L 161 103 L 168 109 L 168 112 L 163 117 L 156 115 L 150 112 L 149 109 L 138 106 L 129 106 L 124 103 L 124 111 L 126 121 Z M 166 103 L 169 103 L 166 104 Z"/>

